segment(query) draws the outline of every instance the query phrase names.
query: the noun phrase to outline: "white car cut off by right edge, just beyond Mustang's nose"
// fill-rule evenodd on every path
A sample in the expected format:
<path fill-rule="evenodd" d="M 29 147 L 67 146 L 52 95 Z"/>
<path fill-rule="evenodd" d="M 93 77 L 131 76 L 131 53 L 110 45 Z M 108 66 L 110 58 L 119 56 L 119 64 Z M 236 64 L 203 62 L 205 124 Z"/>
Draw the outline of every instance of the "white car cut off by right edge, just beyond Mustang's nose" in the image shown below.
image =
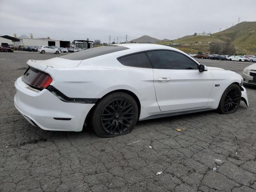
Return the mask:
<path fill-rule="evenodd" d="M 244 68 L 242 77 L 245 85 L 256 86 L 256 63 Z"/>

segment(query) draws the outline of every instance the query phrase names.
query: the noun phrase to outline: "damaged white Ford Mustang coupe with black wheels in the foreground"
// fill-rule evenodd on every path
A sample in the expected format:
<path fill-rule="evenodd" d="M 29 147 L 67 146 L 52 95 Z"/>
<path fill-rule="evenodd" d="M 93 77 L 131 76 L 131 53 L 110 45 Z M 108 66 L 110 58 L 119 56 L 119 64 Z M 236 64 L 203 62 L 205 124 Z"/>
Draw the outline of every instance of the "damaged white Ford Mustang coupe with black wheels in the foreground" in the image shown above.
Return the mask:
<path fill-rule="evenodd" d="M 49 60 L 28 60 L 15 82 L 14 104 L 44 130 L 81 131 L 89 122 L 101 137 L 126 134 L 137 120 L 248 106 L 235 72 L 199 64 L 157 44 L 91 48 Z"/>

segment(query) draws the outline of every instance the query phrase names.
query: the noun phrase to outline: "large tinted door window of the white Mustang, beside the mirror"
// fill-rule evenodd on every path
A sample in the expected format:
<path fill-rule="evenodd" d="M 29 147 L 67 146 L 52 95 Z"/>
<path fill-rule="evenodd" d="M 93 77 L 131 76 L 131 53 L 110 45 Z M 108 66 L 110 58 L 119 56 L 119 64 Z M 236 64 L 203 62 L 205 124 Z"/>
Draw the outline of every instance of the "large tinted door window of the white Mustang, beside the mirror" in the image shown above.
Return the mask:
<path fill-rule="evenodd" d="M 146 52 L 155 69 L 196 69 L 198 65 L 187 56 L 167 50 Z"/>

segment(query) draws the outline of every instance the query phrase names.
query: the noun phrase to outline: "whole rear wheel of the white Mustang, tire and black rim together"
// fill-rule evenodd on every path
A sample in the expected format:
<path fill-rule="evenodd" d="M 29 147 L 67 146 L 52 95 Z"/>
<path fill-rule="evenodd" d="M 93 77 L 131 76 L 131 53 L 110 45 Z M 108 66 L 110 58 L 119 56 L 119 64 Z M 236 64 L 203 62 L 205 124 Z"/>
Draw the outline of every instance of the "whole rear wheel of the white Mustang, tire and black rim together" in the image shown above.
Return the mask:
<path fill-rule="evenodd" d="M 104 97 L 96 104 L 90 116 L 92 130 L 103 138 L 131 132 L 137 120 L 137 103 L 124 92 L 115 92 Z"/>

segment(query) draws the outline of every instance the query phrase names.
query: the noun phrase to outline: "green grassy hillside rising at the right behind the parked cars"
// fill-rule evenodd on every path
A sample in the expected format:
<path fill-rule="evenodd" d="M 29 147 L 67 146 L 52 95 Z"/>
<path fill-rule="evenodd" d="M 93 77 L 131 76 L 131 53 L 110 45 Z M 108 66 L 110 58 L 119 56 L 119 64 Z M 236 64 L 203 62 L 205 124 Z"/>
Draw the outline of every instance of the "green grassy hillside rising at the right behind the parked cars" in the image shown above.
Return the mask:
<path fill-rule="evenodd" d="M 227 39 L 230 39 L 236 47 L 238 54 L 256 54 L 256 22 L 241 22 L 221 32 L 212 34 L 211 36 L 194 36 L 187 35 L 176 40 L 157 42 L 171 46 L 172 43 L 180 44 L 176 46 L 186 52 L 191 53 L 198 51 L 209 52 L 209 44 L 218 42 L 224 44 Z"/>

